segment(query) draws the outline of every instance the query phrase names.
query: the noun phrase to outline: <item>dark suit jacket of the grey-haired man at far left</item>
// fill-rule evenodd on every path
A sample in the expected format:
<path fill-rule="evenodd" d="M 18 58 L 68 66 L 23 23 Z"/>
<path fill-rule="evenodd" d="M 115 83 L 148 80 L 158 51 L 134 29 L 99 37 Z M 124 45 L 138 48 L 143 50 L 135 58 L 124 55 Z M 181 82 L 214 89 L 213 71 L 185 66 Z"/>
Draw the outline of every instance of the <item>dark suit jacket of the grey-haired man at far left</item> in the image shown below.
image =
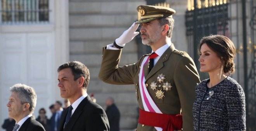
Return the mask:
<path fill-rule="evenodd" d="M 19 128 L 19 131 L 45 131 L 43 125 L 36 121 L 35 116 L 28 118 Z"/>

